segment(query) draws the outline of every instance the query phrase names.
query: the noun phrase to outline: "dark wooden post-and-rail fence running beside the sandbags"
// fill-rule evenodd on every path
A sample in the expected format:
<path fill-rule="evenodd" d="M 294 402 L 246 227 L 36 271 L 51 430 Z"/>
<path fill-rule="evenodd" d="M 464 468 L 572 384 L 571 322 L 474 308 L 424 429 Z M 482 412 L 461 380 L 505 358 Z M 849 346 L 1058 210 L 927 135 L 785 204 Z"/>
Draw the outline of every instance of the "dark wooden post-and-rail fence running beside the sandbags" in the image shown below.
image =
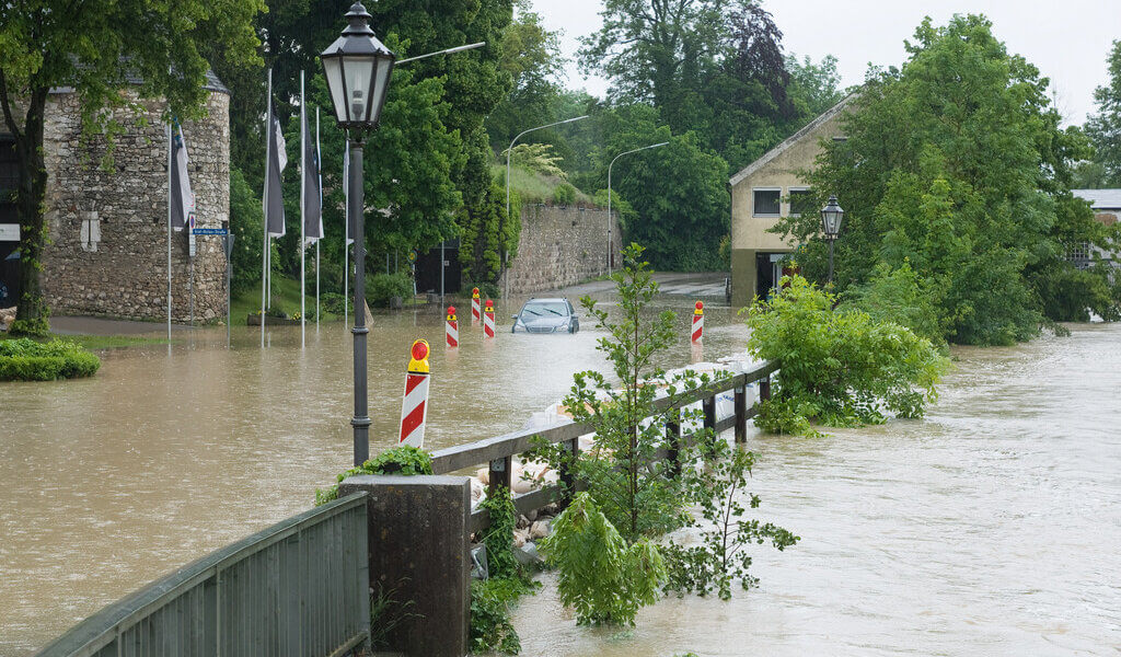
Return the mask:
<path fill-rule="evenodd" d="M 754 417 L 756 408 L 748 408 L 747 386 L 759 382 L 759 399 L 770 398 L 770 376 L 778 371 L 778 363 L 766 362 L 750 372 L 735 374 L 733 377 L 710 382 L 706 386 L 678 395 L 676 398 L 663 398 L 655 402 L 658 411 L 667 408 L 680 408 L 691 404 L 701 402 L 704 414 L 704 428 L 713 429 L 717 435 L 730 428 L 735 429 L 735 441 L 747 439 L 748 419 Z M 728 390 L 734 390 L 732 415 L 716 417 L 716 397 Z M 527 452 L 534 447 L 536 441 L 544 439 L 549 444 L 567 443 L 568 450 L 574 454 L 580 451 L 580 437 L 594 433 L 595 429 L 587 423 L 569 423 L 540 429 L 524 429 L 493 438 L 487 438 L 466 445 L 456 445 L 438 450 L 432 454 L 432 469 L 435 474 L 447 474 L 464 468 L 471 468 L 481 463 L 489 464 L 490 490 L 501 485 L 510 488 L 510 475 L 513 470 L 513 456 Z M 678 424 L 666 426 L 666 447 L 663 447 L 657 457 L 675 459 L 675 445 L 687 443 L 691 436 L 682 435 L 682 427 Z M 569 473 L 560 472 L 560 480 L 572 490 L 574 483 Z M 562 487 L 557 484 L 544 485 L 528 493 L 513 496 L 513 506 L 519 513 L 525 513 L 534 509 L 544 508 L 562 499 Z M 485 509 L 475 509 L 471 513 L 471 530 L 479 531 L 490 525 L 490 513 Z"/>

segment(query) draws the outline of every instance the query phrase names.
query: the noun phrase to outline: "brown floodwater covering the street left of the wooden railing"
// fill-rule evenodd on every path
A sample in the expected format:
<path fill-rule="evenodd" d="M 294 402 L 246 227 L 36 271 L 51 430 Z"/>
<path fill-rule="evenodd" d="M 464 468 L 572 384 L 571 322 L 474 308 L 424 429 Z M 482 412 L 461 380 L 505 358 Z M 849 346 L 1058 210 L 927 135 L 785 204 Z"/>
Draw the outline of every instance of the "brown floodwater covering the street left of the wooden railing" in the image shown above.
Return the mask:
<path fill-rule="evenodd" d="M 692 299 L 657 305 L 680 315 L 664 364 L 687 364 Z M 520 429 L 565 396 L 574 372 L 603 369 L 586 313 L 575 335 L 511 335 L 520 299 L 497 306 L 492 341 L 460 308 L 455 352 L 439 308 L 374 316 L 371 453 L 396 444 L 417 337 L 433 345 L 427 448 Z M 747 328 L 729 308 L 706 320 L 706 357 L 743 350 Z M 224 328 L 184 340 L 102 352 L 91 379 L 0 383 L 0 656 L 28 655 L 151 580 L 306 510 L 350 468 L 352 336 L 341 322 L 309 324 L 306 350 L 298 326 L 270 327 L 265 350 L 260 330 L 243 326 L 231 350 Z"/>

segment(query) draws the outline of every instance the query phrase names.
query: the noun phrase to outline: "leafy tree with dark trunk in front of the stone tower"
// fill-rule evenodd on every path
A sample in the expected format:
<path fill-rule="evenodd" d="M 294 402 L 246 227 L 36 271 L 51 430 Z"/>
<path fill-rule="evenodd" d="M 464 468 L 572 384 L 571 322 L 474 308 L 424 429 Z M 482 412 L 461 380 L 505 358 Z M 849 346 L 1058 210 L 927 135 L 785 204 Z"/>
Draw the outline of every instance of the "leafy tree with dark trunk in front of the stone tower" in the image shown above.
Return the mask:
<path fill-rule="evenodd" d="M 262 8 L 260 0 L 0 4 L 0 108 L 19 163 L 21 292 L 13 331 L 47 328 L 39 258 L 46 239 L 43 128 L 49 91 L 73 87 L 83 130 L 105 133 L 110 141 L 120 130 L 110 110 L 140 109 L 135 96 L 120 93 L 122 81 L 133 75 L 143 81 L 135 87 L 141 99 L 167 99 L 167 118 L 198 117 L 209 93 L 203 89 L 210 67 L 205 55 L 220 43 L 231 66 L 253 63 L 251 21 Z"/>

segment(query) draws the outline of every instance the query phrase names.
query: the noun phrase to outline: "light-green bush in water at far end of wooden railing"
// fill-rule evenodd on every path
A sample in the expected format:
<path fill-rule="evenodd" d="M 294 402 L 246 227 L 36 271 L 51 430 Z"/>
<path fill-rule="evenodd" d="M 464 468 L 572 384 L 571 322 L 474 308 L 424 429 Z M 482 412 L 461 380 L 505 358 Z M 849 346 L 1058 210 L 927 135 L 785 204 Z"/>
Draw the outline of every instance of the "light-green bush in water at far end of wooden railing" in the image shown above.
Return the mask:
<path fill-rule="evenodd" d="M 782 286 L 748 311 L 748 349 L 779 363 L 779 399 L 808 405 L 802 408 L 832 426 L 879 423 L 882 409 L 923 415 L 948 367 L 929 340 L 861 311 L 834 309 L 836 297 L 800 276 L 784 276 Z"/>

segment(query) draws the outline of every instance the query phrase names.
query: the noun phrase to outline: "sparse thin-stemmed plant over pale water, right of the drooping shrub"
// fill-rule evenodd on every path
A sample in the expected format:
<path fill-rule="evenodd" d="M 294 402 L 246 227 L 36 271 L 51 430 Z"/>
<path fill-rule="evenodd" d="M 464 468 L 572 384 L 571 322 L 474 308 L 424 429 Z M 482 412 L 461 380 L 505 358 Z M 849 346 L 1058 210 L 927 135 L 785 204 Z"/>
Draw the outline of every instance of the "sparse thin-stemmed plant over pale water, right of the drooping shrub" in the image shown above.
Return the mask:
<path fill-rule="evenodd" d="M 726 443 L 720 445 L 728 451 Z M 751 452 L 732 450 L 730 457 L 714 460 L 706 476 L 698 480 L 705 490 L 705 494 L 697 496 L 705 522 L 701 545 L 683 547 L 670 543 L 664 548 L 669 575 L 666 593 L 705 595 L 716 591 L 721 600 L 730 600 L 733 581 L 739 580 L 744 591 L 758 582 L 748 573 L 751 555 L 744 548 L 769 540 L 781 552 L 798 542 L 781 527 L 743 519 L 747 509 L 741 499 L 754 463 Z M 759 497 L 747 493 L 747 498 L 752 509 L 759 508 Z"/>

